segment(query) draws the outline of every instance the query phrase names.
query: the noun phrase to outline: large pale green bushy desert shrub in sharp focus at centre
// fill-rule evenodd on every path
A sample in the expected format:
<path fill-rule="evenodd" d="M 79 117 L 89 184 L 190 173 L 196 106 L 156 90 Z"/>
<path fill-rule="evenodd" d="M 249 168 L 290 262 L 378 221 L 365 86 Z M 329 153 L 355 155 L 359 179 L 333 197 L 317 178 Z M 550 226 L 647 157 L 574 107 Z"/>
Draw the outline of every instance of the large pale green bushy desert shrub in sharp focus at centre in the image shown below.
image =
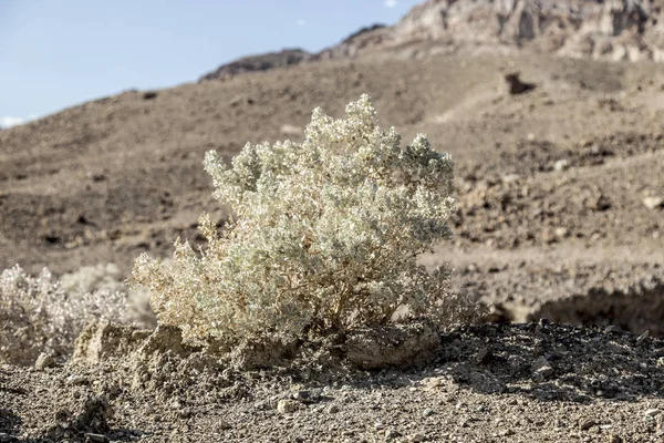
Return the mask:
<path fill-rule="evenodd" d="M 366 95 L 345 111 L 314 110 L 303 143 L 247 144 L 230 165 L 207 153 L 215 197 L 236 216 L 219 233 L 204 214 L 208 246 L 178 239 L 168 267 L 136 260 L 159 321 L 234 339 L 380 324 L 400 307 L 438 323 L 474 309 L 449 293 L 444 269 L 416 262 L 452 236 L 449 156 L 424 135 L 402 146 Z"/>

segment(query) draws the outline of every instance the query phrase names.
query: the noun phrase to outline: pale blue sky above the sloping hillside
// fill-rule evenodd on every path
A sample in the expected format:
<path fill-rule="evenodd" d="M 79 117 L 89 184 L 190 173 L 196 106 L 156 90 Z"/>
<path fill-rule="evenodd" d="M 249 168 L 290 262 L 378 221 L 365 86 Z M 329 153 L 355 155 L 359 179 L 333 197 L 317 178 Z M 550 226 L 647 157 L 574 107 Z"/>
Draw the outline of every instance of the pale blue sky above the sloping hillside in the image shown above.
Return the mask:
<path fill-rule="evenodd" d="M 338 43 L 417 0 L 0 0 L 0 127 L 237 58 Z"/>

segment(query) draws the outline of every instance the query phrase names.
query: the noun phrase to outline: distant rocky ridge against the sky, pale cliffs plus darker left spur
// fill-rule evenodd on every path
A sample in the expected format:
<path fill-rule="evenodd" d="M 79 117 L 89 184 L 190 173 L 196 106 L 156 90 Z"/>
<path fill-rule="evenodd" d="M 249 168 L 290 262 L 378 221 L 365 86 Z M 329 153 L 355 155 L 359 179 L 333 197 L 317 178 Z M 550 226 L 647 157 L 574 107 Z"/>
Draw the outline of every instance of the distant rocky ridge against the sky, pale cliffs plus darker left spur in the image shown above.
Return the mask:
<path fill-rule="evenodd" d="M 320 53 L 283 50 L 243 58 L 201 81 L 385 49 L 397 49 L 402 56 L 530 49 L 571 58 L 661 62 L 662 19 L 662 0 L 427 0 L 393 27 L 361 29 Z M 433 43 L 425 54 L 412 48 L 423 42 Z"/>

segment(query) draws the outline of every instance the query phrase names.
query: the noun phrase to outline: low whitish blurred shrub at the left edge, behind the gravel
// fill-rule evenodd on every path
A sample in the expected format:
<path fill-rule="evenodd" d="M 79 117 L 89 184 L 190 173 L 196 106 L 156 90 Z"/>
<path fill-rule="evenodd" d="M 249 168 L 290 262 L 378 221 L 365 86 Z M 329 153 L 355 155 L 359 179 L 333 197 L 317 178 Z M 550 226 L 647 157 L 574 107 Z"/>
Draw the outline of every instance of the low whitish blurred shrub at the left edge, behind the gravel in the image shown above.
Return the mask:
<path fill-rule="evenodd" d="M 31 364 L 41 352 L 68 356 L 92 320 L 126 321 L 126 295 L 111 289 L 65 290 L 48 269 L 38 277 L 20 266 L 0 275 L 0 361 Z"/>

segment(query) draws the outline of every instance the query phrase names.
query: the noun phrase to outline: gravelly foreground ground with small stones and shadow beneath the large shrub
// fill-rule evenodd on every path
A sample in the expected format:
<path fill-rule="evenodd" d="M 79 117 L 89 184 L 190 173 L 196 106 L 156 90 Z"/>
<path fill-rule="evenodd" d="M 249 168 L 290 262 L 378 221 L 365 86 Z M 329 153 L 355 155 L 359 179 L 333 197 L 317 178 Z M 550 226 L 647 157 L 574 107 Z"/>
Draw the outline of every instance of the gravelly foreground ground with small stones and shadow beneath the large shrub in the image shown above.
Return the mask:
<path fill-rule="evenodd" d="M 412 337 L 408 328 L 391 333 Z M 427 341 L 433 352 L 418 365 L 373 371 L 357 368 L 343 339 L 333 340 L 342 343 L 334 364 L 321 365 L 321 352 L 311 358 L 304 343 L 293 359 L 258 369 L 237 354 L 173 347 L 172 338 L 145 344 L 159 334 L 102 359 L 82 356 L 80 344 L 66 364 L 1 367 L 0 441 L 664 439 L 664 340 L 613 328 L 467 327 Z"/>

